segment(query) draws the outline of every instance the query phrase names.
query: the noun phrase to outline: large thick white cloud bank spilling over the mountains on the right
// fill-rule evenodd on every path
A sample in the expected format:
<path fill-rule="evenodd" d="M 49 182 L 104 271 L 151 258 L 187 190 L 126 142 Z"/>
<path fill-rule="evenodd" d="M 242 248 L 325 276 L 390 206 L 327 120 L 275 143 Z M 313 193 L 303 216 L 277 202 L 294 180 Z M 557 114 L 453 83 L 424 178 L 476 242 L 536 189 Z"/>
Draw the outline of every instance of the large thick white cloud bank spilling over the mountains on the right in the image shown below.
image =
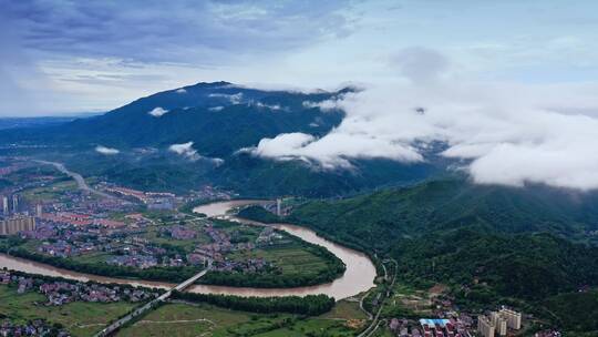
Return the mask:
<path fill-rule="evenodd" d="M 598 85 L 456 84 L 423 76 L 425 85 L 402 82 L 327 102 L 347 118 L 321 139 L 279 134 L 250 151 L 332 168 L 350 167 L 351 159 L 423 162 L 414 144 L 442 141 L 442 155 L 466 160 L 477 183 L 598 188 Z"/>

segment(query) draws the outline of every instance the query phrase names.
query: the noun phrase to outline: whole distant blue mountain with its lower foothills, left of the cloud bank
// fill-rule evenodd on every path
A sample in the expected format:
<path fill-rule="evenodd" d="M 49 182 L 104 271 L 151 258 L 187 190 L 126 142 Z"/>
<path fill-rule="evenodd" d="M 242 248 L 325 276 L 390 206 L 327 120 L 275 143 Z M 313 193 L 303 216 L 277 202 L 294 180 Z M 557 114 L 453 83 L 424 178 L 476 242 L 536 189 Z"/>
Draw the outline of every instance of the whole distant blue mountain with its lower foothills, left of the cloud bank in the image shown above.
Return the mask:
<path fill-rule="evenodd" d="M 326 102 L 355 90 L 270 91 L 197 83 L 97 116 L 8 130 L 0 143 L 50 146 L 34 154 L 131 187 L 188 191 L 215 184 L 248 196 L 344 195 L 417 182 L 443 167 L 436 162 L 357 159 L 350 170 L 324 170 L 308 159 L 272 160 L 252 153 L 261 140 L 279 134 L 326 135 L 344 118 Z"/>

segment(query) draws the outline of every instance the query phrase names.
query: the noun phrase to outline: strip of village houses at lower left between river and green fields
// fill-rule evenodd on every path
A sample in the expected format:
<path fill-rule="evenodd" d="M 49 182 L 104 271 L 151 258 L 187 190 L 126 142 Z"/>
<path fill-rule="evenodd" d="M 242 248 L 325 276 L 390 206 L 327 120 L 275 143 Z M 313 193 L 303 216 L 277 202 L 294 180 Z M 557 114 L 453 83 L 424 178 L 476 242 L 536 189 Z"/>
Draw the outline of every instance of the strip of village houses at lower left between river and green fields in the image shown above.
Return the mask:
<path fill-rule="evenodd" d="M 18 294 L 38 292 L 48 298 L 45 305 L 61 306 L 71 302 L 113 303 L 127 300 L 145 302 L 158 296 L 157 293 L 125 286 L 105 286 L 94 283 L 71 283 L 63 280 L 44 280 L 34 277 L 11 275 L 0 272 L 0 280 L 4 285 L 17 286 Z"/>

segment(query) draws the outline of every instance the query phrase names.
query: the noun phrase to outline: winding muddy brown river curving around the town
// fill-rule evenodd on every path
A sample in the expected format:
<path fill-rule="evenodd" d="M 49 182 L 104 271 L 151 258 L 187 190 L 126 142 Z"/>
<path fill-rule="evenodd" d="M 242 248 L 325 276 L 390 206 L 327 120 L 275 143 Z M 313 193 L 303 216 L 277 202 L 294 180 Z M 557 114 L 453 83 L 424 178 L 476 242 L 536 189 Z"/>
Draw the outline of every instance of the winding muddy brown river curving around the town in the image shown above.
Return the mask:
<path fill-rule="evenodd" d="M 235 207 L 255 204 L 256 201 L 227 201 L 227 202 L 216 202 L 212 204 L 202 205 L 194 208 L 195 213 L 204 213 L 210 217 L 215 216 L 226 216 L 231 221 L 244 222 L 254 225 L 264 225 L 256 222 L 250 222 L 246 219 L 240 219 L 236 217 L 230 217 L 226 213 Z M 370 261 L 370 258 L 360 252 L 343 247 L 336 243 L 324 239 L 321 236 L 318 236 L 313 231 L 290 225 L 290 224 L 272 224 L 268 225 L 276 227 L 277 229 L 285 231 L 291 235 L 298 236 L 306 242 L 323 246 L 332 254 L 337 255 L 346 265 L 347 270 L 344 274 L 333 280 L 332 283 L 322 284 L 318 286 L 309 287 L 297 287 L 297 288 L 244 288 L 244 287 L 228 287 L 228 286 L 210 286 L 210 285 L 194 285 L 188 289 L 192 293 L 204 293 L 204 294 L 227 294 L 227 295 L 238 295 L 238 296 L 289 296 L 289 295 L 316 295 L 316 294 L 326 294 L 328 296 L 334 297 L 337 300 L 347 298 L 369 288 L 373 287 L 373 280 L 375 278 L 375 267 Z M 83 274 L 71 272 L 66 269 L 61 269 L 52 267 L 45 264 L 27 261 L 23 258 L 18 258 L 13 256 L 8 256 L 0 254 L 0 268 L 7 267 L 13 270 L 21 270 L 31 274 L 40 274 L 48 276 L 60 276 L 64 278 L 71 278 L 76 280 L 94 280 L 100 283 L 117 283 L 117 284 L 130 284 L 133 286 L 146 286 L 146 287 L 161 287 L 161 288 L 172 288 L 175 285 L 163 282 L 151 282 L 151 280 L 132 280 L 124 278 L 112 278 L 112 277 L 102 277 L 97 275 Z"/>

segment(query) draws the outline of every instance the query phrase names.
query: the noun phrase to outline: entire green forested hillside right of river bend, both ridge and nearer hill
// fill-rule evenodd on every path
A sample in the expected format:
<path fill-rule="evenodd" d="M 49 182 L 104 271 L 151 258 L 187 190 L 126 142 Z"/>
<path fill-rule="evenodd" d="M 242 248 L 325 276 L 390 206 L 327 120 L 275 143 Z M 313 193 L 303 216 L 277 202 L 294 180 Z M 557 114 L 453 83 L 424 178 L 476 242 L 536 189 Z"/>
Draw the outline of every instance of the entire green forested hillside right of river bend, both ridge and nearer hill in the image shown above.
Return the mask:
<path fill-rule="evenodd" d="M 419 285 L 462 298 L 539 300 L 598 285 L 598 194 L 439 180 L 342 201 L 309 202 L 289 221 L 399 261 Z"/>

